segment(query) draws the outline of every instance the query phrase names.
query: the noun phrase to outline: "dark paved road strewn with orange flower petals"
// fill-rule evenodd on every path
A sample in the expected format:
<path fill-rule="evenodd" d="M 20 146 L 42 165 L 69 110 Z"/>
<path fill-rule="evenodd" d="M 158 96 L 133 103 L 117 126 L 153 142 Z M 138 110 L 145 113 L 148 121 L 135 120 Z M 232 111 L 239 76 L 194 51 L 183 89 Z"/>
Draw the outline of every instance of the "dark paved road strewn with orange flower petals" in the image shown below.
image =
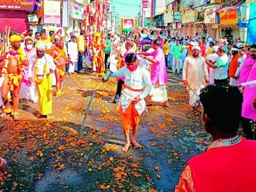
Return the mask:
<path fill-rule="evenodd" d="M 140 149 L 124 143 L 118 105 L 110 104 L 116 80 L 68 76 L 54 98 L 50 121 L 35 118 L 37 104 L 20 105 L 21 121 L 0 120 L 1 155 L 9 161 L 4 191 L 173 191 L 187 160 L 203 152 L 209 137 L 200 114 L 188 106 L 180 77 L 168 73 L 170 107 L 148 107 L 138 133 Z M 90 95 L 99 86 L 85 130 L 77 131 Z"/>

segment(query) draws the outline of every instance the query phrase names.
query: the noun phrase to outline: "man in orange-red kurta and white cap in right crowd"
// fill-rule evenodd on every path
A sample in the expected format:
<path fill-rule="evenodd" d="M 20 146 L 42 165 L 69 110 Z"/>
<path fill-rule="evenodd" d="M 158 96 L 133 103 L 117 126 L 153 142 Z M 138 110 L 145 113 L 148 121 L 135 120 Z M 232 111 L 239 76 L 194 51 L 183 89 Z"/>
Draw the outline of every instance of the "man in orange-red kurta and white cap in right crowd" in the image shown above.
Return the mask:
<path fill-rule="evenodd" d="M 231 53 L 233 55 L 229 64 L 229 84 L 235 85 L 237 84 L 237 78 L 235 78 L 236 69 L 238 68 L 238 59 L 240 58 L 240 54 L 238 54 L 239 49 L 236 47 L 231 48 Z"/>

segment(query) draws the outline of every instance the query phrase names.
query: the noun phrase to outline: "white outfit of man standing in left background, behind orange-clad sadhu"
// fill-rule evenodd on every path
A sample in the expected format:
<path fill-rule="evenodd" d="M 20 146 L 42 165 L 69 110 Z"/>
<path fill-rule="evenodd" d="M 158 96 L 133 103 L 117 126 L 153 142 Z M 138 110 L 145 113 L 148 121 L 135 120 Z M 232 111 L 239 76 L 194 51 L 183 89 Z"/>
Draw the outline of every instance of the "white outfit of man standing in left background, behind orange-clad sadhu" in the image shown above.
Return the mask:
<path fill-rule="evenodd" d="M 68 64 L 68 73 L 74 73 L 74 70 L 77 68 L 77 61 L 78 61 L 78 50 L 77 50 L 77 43 L 76 42 L 69 42 L 68 43 L 68 55 L 73 62 Z"/>

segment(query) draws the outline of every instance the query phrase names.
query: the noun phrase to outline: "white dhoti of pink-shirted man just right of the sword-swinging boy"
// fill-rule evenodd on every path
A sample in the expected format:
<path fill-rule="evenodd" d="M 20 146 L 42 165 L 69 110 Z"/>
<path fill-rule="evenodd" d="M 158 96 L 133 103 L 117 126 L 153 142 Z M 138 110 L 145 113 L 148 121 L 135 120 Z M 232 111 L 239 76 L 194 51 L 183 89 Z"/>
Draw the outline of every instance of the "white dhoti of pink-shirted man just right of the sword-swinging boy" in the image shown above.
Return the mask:
<path fill-rule="evenodd" d="M 149 93 L 151 97 L 148 103 L 168 103 L 168 95 L 165 85 L 152 85 L 152 90 Z"/>

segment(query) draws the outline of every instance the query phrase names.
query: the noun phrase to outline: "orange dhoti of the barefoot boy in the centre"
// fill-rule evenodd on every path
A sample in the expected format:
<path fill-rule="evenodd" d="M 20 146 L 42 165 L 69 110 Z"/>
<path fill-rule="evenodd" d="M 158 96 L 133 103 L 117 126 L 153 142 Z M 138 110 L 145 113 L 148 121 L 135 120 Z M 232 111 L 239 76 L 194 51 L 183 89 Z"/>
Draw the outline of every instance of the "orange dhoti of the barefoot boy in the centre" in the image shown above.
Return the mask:
<path fill-rule="evenodd" d="M 130 127 L 137 127 L 140 123 L 141 116 L 135 109 L 135 104 L 131 101 L 126 111 L 123 112 L 122 106 L 119 107 L 119 113 L 121 114 L 121 121 L 124 130 L 130 129 Z"/>

